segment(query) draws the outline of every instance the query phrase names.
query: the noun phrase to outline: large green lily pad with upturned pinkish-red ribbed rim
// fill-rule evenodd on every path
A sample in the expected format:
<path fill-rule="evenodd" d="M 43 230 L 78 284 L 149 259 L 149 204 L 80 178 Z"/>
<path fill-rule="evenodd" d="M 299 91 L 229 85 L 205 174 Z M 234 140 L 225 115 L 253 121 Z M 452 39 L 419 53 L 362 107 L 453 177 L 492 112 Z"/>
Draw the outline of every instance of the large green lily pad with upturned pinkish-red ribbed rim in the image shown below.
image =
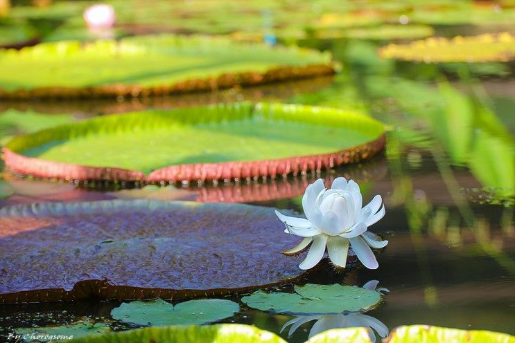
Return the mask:
<path fill-rule="evenodd" d="M 108 115 L 10 140 L 14 172 L 75 180 L 227 180 L 297 174 L 373 156 L 383 124 L 289 104 L 224 104 Z"/>

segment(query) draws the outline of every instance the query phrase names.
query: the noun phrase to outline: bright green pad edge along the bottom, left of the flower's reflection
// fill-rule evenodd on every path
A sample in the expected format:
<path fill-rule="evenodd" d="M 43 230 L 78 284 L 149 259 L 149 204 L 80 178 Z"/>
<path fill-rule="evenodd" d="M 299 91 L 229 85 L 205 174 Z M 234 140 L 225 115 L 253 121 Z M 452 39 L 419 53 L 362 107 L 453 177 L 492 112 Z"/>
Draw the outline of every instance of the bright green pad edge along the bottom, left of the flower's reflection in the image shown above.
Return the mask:
<path fill-rule="evenodd" d="M 281 337 L 255 326 L 217 324 L 137 328 L 109 335 L 71 340 L 70 343 L 286 343 Z"/>

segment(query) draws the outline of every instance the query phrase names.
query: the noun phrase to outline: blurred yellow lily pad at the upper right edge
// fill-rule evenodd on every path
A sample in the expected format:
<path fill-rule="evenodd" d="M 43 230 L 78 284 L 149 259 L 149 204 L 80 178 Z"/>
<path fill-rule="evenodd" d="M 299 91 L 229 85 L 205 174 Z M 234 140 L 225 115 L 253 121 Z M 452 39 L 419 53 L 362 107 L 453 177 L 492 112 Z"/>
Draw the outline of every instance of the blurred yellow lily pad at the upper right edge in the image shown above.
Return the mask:
<path fill-rule="evenodd" d="M 515 38 L 509 33 L 472 37 L 430 37 L 410 44 L 390 44 L 381 57 L 422 62 L 507 62 L 515 57 Z"/>

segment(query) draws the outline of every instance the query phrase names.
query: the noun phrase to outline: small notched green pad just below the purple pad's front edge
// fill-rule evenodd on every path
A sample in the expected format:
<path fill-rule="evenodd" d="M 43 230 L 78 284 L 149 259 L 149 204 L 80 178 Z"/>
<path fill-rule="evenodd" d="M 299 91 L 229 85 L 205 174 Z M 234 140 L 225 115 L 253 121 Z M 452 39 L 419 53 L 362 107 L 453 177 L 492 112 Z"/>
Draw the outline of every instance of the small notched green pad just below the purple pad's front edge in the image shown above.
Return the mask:
<path fill-rule="evenodd" d="M 232 317 L 238 310 L 238 304 L 226 299 L 195 299 L 175 306 L 162 299 L 156 299 L 149 302 L 123 303 L 120 307 L 114 308 L 111 315 L 122 322 L 139 325 L 193 325 Z"/>

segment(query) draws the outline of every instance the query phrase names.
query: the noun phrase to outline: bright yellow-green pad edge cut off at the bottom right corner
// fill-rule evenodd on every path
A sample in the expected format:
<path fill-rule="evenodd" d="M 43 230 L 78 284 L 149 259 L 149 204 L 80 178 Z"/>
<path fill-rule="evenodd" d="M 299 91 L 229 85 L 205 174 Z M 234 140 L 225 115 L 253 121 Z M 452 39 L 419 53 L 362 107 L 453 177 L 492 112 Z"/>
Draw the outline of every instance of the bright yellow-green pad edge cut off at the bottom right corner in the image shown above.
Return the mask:
<path fill-rule="evenodd" d="M 506 333 L 483 330 L 460 330 L 428 325 L 399 326 L 387 338 L 388 343 L 457 342 L 457 343 L 514 343 L 515 337 Z"/>

